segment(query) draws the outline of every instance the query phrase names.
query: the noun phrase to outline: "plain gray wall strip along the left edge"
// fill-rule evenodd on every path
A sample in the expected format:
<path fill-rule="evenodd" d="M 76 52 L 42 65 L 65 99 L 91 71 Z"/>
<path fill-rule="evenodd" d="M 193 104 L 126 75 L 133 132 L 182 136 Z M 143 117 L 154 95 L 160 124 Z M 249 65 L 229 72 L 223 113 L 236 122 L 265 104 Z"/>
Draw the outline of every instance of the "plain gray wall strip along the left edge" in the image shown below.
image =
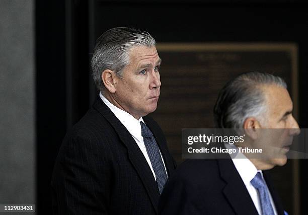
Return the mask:
<path fill-rule="evenodd" d="M 34 1 L 0 0 L 0 204 L 35 203 L 34 63 Z"/>

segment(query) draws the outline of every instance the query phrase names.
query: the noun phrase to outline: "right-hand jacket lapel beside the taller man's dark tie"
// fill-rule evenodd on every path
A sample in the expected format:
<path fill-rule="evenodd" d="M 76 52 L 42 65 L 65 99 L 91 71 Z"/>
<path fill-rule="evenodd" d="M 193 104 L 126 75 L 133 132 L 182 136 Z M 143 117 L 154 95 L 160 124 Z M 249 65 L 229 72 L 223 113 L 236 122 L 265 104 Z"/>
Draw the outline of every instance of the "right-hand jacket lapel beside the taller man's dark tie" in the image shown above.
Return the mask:
<path fill-rule="evenodd" d="M 162 131 L 159 129 L 157 123 L 153 121 L 150 117 L 145 116 L 142 117 L 146 125 L 149 127 L 149 129 L 152 131 L 153 135 L 155 136 L 155 139 L 157 141 L 157 144 L 161 150 L 165 166 L 167 169 L 168 177 L 170 177 L 174 171 L 174 165 L 172 157 L 168 151 L 167 148 L 167 142 L 164 136 L 162 136 Z"/>

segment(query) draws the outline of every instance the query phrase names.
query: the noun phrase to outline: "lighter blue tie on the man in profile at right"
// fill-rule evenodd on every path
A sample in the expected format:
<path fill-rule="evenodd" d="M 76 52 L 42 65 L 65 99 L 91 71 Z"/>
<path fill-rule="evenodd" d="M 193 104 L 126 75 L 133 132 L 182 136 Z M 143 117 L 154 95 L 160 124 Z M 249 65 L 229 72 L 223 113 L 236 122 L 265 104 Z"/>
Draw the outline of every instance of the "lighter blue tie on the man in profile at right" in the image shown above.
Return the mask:
<path fill-rule="evenodd" d="M 258 172 L 256 176 L 250 181 L 250 183 L 256 188 L 259 192 L 262 214 L 263 215 L 274 215 L 274 210 L 271 204 L 269 193 L 265 181 L 263 180 L 261 173 Z"/>

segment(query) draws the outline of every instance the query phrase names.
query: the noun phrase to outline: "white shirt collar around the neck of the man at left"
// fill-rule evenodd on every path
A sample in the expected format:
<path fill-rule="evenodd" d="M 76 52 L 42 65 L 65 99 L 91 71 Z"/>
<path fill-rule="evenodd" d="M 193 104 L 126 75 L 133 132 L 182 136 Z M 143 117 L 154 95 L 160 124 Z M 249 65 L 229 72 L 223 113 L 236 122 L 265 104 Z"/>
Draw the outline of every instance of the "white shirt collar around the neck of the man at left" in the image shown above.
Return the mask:
<path fill-rule="evenodd" d="M 109 107 L 109 109 L 113 112 L 113 114 L 120 120 L 120 122 L 125 126 L 125 128 L 129 131 L 129 133 L 141 141 L 143 139 L 141 135 L 141 125 L 140 121 L 144 122 L 142 117 L 140 117 L 139 120 L 134 118 L 132 115 L 127 113 L 124 110 L 121 110 L 120 108 L 113 105 L 111 102 L 109 102 L 103 94 L 100 92 L 100 97 L 103 100 L 103 102 Z"/>

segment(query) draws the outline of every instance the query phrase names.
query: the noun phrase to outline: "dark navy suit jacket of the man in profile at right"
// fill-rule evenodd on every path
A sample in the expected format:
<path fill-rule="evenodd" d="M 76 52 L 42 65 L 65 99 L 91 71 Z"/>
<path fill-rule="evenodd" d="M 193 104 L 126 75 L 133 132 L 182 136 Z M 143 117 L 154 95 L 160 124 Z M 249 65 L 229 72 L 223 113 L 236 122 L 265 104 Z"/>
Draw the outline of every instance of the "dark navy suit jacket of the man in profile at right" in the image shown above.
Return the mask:
<path fill-rule="evenodd" d="M 283 209 L 263 171 L 278 214 Z M 258 215 L 231 159 L 191 159 L 180 165 L 162 193 L 159 214 Z"/>

